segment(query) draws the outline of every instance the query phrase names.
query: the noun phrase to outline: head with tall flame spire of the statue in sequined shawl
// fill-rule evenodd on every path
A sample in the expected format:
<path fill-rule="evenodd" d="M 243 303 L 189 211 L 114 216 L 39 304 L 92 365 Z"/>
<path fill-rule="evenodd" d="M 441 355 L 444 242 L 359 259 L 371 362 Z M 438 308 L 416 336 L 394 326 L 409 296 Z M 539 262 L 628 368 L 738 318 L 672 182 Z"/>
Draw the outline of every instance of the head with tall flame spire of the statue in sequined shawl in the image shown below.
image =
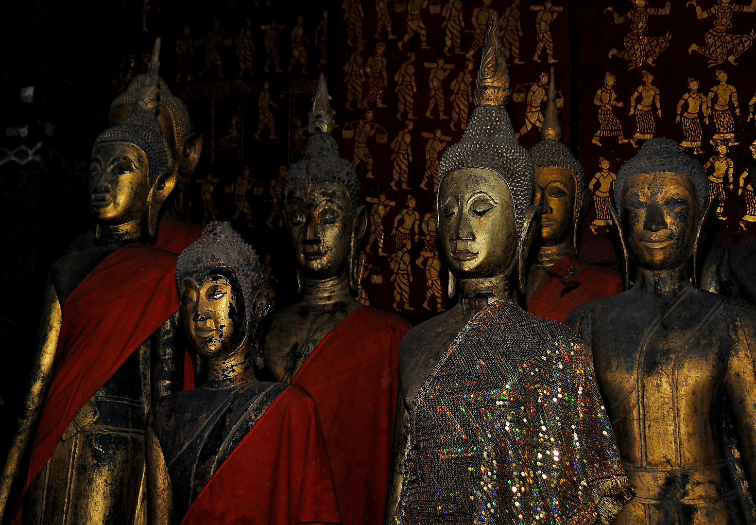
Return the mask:
<path fill-rule="evenodd" d="M 454 278 L 507 281 L 516 266 L 524 290 L 523 256 L 538 230 L 533 160 L 517 144 L 504 109 L 512 91 L 497 21 L 494 12 L 473 95 L 477 107 L 438 165 L 438 238 L 451 272 L 450 297 Z"/>

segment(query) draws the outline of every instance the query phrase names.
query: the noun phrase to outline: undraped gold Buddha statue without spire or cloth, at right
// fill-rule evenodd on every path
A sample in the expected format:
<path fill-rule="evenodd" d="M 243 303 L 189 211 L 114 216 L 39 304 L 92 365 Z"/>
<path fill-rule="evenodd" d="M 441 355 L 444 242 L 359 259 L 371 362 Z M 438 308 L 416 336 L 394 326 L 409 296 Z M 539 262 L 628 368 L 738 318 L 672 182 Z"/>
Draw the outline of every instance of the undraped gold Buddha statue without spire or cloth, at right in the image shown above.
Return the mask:
<path fill-rule="evenodd" d="M 615 523 L 747 523 L 722 418 L 726 407 L 752 492 L 756 312 L 692 279 L 717 209 L 706 172 L 676 142 L 654 138 L 619 170 L 615 202 L 635 282 L 567 320 L 592 359 L 636 492 Z"/>

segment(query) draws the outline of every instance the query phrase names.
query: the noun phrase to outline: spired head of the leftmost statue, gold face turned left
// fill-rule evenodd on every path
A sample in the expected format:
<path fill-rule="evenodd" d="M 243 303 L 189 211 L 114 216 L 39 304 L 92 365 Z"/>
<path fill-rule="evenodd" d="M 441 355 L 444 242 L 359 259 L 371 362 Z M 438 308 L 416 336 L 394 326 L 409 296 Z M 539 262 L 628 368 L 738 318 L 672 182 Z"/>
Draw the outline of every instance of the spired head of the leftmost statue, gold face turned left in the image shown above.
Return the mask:
<path fill-rule="evenodd" d="M 156 39 L 134 109 L 92 147 L 88 185 L 98 231 L 127 224 L 141 230 L 146 222 L 150 236 L 155 235 L 160 208 L 175 187 L 174 157 L 158 118 L 159 55 Z"/>

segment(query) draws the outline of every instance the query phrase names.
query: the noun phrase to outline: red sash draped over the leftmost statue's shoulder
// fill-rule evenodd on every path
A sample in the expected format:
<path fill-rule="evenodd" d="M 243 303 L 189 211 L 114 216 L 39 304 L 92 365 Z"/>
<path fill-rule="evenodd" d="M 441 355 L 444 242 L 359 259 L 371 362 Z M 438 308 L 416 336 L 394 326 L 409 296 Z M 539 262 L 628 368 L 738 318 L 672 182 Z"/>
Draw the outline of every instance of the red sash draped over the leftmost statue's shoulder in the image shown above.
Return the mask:
<path fill-rule="evenodd" d="M 107 257 L 64 305 L 53 379 L 34 436 L 24 492 L 79 409 L 178 311 L 176 256 L 129 244 Z"/>

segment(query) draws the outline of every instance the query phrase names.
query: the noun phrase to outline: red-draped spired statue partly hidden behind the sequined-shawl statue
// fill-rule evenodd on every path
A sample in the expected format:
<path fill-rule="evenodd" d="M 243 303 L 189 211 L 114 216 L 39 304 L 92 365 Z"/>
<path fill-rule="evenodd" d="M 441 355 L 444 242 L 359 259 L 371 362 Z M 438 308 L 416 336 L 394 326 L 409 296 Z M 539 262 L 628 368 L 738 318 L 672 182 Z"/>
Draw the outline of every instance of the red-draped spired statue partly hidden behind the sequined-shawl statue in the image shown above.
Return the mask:
<path fill-rule="evenodd" d="M 541 141 L 530 150 L 535 163 L 534 202 L 541 212 L 541 233 L 528 268 L 528 312 L 564 322 L 567 314 L 592 299 L 623 290 L 617 269 L 578 260 L 583 219 L 590 207 L 581 163 L 562 144 L 551 68 Z"/>

